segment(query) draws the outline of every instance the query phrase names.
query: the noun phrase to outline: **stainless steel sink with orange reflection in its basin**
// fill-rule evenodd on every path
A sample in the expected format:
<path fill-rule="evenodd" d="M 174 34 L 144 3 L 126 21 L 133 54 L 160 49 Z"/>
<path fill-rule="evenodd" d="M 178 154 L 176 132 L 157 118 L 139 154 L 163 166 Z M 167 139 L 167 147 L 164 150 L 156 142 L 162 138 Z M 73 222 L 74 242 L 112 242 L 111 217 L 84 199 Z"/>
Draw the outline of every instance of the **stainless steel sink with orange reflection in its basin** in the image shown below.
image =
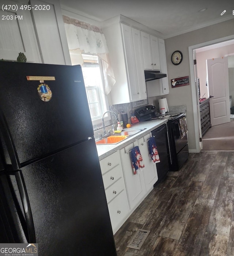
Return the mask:
<path fill-rule="evenodd" d="M 135 135 L 138 132 L 143 131 L 143 129 L 123 129 L 119 133 L 114 133 L 114 135 L 109 135 L 106 138 L 96 140 L 97 145 L 106 145 L 106 144 L 118 144 L 121 141 L 128 139 L 129 137 Z"/>

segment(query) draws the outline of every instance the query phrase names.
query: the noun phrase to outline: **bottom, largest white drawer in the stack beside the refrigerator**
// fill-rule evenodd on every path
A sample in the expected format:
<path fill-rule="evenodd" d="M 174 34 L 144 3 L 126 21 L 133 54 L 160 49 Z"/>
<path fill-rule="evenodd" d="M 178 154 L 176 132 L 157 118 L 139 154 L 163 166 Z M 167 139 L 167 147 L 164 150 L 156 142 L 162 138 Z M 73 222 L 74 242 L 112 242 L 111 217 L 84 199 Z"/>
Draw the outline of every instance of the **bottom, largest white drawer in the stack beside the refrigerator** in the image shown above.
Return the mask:
<path fill-rule="evenodd" d="M 108 204 L 108 209 L 112 230 L 114 231 L 128 215 L 128 199 L 125 190 Z"/>

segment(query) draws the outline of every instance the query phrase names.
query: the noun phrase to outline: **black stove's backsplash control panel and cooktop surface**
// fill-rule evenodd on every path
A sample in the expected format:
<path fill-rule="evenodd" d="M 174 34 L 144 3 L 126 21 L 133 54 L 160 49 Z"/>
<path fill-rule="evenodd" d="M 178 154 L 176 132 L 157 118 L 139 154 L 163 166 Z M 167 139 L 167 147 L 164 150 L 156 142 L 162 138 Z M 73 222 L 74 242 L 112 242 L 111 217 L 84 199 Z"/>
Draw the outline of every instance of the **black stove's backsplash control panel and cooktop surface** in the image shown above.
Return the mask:
<path fill-rule="evenodd" d="M 146 105 L 135 110 L 134 115 L 137 117 L 137 119 L 140 122 L 144 122 L 144 121 L 158 120 L 158 119 L 165 119 L 165 118 L 167 118 L 168 120 L 175 120 L 183 116 L 184 113 L 167 112 L 166 114 L 160 114 L 156 112 L 155 106 Z"/>

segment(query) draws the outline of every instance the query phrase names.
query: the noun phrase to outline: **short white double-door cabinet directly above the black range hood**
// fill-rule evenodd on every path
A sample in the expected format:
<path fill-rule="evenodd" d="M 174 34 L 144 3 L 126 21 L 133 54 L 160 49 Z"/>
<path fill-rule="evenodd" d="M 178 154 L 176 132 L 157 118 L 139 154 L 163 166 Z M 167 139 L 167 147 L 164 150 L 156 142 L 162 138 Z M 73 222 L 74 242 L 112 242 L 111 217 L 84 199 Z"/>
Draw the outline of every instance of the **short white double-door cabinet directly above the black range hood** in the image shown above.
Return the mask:
<path fill-rule="evenodd" d="M 144 69 L 160 70 L 158 38 L 140 31 Z"/>

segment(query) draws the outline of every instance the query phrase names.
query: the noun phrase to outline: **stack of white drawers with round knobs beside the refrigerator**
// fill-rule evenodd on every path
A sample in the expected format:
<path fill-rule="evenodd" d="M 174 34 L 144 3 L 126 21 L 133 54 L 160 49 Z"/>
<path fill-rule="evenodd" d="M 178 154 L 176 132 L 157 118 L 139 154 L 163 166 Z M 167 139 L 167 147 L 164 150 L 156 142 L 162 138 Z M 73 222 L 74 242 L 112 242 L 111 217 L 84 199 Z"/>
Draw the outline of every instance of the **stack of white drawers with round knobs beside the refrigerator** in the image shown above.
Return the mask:
<path fill-rule="evenodd" d="M 119 151 L 102 159 L 100 166 L 112 230 L 115 233 L 129 212 Z"/>

